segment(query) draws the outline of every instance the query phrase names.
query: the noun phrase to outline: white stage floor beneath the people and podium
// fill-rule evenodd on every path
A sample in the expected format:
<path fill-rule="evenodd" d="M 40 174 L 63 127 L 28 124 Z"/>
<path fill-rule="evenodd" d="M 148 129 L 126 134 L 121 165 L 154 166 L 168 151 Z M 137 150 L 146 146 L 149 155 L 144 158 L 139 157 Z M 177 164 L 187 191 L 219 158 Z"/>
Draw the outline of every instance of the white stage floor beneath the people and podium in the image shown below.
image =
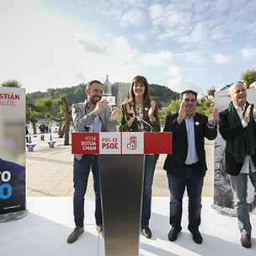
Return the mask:
<path fill-rule="evenodd" d="M 104 239 L 98 236 L 94 224 L 94 200 L 86 198 L 85 232 L 77 242 L 68 244 L 67 236 L 74 227 L 72 197 L 28 197 L 29 214 L 18 221 L 0 223 L 0 255 L 2 256 L 65 256 L 104 255 Z M 203 198 L 202 244 L 196 244 L 187 229 L 187 198 L 184 198 L 183 230 L 173 243 L 168 241 L 168 197 L 152 198 L 152 238 L 141 234 L 140 255 L 255 255 L 256 216 L 253 225 L 252 248 L 239 242 L 237 218 L 223 216 L 212 210 L 212 198 Z M 125 231 L 124 231 L 125 232 Z"/>

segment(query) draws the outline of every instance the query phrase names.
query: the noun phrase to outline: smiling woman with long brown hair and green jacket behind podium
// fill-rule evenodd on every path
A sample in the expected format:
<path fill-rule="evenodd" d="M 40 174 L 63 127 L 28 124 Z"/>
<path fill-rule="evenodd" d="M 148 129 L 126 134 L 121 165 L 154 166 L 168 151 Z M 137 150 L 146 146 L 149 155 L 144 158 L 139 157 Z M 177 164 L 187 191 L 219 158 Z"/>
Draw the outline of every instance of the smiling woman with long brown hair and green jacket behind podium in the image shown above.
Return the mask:
<path fill-rule="evenodd" d="M 136 76 L 132 79 L 130 100 L 120 105 L 119 131 L 160 131 L 158 118 L 158 107 L 150 100 L 147 79 Z M 145 156 L 144 184 L 141 212 L 141 230 L 147 238 L 152 237 L 149 228 L 152 201 L 152 182 L 159 155 L 151 154 Z"/>

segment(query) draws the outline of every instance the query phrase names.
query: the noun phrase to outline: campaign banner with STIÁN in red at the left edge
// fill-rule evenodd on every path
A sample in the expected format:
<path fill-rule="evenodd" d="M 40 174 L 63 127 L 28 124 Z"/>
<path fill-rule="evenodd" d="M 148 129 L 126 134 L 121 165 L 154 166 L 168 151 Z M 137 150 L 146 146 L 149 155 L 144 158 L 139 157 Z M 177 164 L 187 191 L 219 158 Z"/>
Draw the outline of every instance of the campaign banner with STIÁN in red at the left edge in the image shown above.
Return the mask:
<path fill-rule="evenodd" d="M 0 87 L 0 215 L 25 203 L 25 89 Z"/>

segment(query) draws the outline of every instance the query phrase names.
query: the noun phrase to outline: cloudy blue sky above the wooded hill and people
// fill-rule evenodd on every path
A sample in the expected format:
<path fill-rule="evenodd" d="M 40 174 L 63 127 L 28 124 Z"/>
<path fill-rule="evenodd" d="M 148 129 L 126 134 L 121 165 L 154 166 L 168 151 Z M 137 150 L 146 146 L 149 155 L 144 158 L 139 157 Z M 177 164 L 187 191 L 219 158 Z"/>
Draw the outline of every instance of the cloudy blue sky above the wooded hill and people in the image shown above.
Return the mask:
<path fill-rule="evenodd" d="M 148 83 L 207 93 L 255 67 L 254 0 L 0 0 L 0 83 L 26 93 Z"/>

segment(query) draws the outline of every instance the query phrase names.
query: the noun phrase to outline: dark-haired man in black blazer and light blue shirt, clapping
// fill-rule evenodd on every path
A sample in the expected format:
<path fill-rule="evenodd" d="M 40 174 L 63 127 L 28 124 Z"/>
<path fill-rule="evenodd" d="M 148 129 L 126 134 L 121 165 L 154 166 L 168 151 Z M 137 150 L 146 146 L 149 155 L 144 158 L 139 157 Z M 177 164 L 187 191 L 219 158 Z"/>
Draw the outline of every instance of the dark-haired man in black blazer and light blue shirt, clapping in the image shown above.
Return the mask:
<path fill-rule="evenodd" d="M 170 190 L 170 225 L 168 239 L 175 241 L 181 231 L 184 189 L 189 196 L 189 232 L 195 243 L 202 243 L 199 232 L 201 193 L 205 172 L 205 138 L 214 140 L 217 134 L 214 121 L 217 109 L 207 118 L 195 113 L 197 93 L 185 90 L 180 94 L 179 113 L 168 115 L 163 131 L 173 133 L 173 154 L 168 155 L 163 168 L 167 171 Z"/>

